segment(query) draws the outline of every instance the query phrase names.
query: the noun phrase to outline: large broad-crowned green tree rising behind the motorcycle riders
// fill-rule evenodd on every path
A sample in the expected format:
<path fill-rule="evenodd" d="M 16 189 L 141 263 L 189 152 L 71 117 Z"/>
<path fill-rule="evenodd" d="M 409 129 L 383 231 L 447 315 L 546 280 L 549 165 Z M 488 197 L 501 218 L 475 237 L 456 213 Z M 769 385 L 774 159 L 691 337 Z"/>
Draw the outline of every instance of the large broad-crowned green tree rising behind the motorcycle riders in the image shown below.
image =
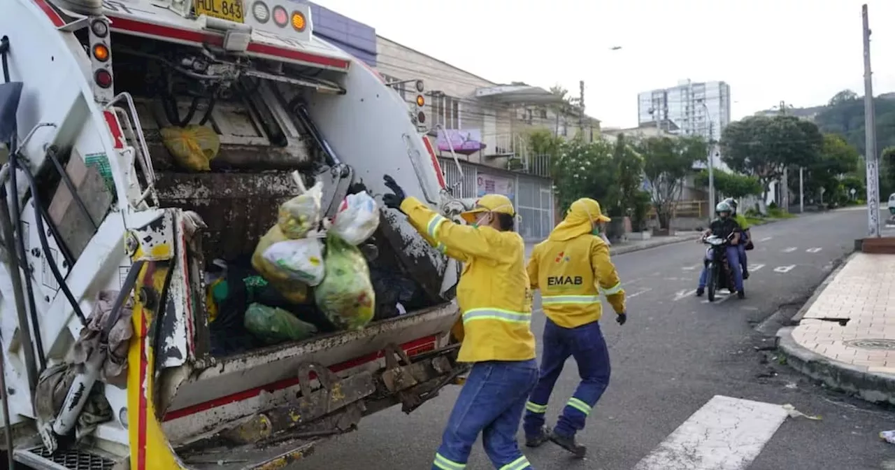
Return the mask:
<path fill-rule="evenodd" d="M 758 178 L 767 199 L 771 181 L 786 167 L 807 167 L 820 158 L 823 135 L 793 115 L 750 116 L 731 123 L 721 135 L 721 159 L 738 173 Z"/>

